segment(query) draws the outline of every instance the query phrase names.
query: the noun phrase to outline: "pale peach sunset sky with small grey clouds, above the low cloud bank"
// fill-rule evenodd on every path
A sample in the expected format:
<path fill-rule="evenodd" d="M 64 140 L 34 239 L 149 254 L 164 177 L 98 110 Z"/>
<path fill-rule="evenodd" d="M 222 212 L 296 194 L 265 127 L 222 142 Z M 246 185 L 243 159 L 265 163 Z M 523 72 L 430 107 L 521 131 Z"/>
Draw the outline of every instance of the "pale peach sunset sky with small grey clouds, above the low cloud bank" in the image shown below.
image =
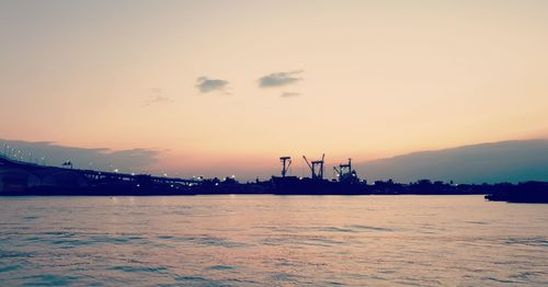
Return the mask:
<path fill-rule="evenodd" d="M 0 0 L 0 138 L 147 171 L 548 137 L 547 1 Z"/>

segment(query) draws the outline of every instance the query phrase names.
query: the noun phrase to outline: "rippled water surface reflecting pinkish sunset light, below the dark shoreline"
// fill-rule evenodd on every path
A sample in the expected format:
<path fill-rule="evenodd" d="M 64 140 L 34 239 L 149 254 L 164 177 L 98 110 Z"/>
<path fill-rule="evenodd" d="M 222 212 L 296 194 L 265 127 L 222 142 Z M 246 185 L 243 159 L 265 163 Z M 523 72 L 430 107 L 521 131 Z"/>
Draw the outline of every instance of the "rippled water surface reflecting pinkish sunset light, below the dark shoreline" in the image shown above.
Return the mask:
<path fill-rule="evenodd" d="M 548 285 L 548 205 L 0 197 L 0 286 Z"/>

